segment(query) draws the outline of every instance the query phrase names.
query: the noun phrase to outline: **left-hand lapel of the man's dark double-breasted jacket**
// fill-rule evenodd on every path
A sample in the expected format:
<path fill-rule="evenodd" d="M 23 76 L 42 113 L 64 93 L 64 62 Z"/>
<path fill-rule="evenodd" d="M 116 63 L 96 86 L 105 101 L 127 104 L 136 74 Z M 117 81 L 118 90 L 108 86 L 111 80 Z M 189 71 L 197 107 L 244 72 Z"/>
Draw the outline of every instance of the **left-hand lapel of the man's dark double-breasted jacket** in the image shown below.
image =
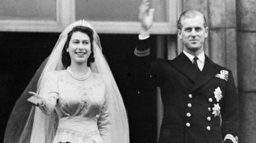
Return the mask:
<path fill-rule="evenodd" d="M 181 52 L 177 58 L 172 60 L 172 65 L 195 83 L 197 79 L 196 68 L 183 52 Z"/>

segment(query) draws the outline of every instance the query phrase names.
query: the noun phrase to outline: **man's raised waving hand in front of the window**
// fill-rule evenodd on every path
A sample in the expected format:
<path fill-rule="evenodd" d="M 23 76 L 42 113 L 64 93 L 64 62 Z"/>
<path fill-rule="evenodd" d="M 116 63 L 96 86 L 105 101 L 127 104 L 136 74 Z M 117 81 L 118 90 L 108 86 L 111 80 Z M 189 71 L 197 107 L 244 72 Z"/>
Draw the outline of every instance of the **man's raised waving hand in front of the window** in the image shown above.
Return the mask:
<path fill-rule="evenodd" d="M 139 19 L 143 30 L 148 30 L 153 24 L 154 9 L 150 8 L 149 0 L 143 0 L 139 8 Z"/>

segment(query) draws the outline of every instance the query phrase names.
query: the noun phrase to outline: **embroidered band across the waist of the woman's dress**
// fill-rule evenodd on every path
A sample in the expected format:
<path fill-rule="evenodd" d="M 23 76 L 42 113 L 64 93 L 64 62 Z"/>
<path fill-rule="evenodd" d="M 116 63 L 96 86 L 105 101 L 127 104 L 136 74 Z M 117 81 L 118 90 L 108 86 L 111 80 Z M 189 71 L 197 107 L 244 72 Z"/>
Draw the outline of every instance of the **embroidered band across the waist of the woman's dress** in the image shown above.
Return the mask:
<path fill-rule="evenodd" d="M 60 133 L 70 134 L 74 137 L 81 138 L 83 141 L 86 141 L 86 140 L 90 139 L 92 136 L 100 135 L 98 130 L 93 130 L 93 131 L 88 132 L 88 133 L 82 133 L 82 132 L 72 130 L 72 129 L 58 128 L 57 134 L 60 134 Z"/>

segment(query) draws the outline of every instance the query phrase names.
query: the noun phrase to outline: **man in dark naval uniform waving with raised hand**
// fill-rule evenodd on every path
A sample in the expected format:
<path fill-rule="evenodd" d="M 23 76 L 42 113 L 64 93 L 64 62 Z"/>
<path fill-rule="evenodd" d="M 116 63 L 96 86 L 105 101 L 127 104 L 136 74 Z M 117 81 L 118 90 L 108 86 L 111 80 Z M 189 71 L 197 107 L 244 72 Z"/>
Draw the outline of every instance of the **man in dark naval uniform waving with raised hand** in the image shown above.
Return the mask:
<path fill-rule="evenodd" d="M 208 37 L 206 18 L 197 10 L 178 20 L 183 51 L 173 60 L 149 61 L 154 9 L 140 6 L 142 30 L 135 48 L 137 78 L 161 87 L 164 115 L 159 143 L 237 143 L 238 103 L 232 72 L 212 62 L 203 50 Z"/>

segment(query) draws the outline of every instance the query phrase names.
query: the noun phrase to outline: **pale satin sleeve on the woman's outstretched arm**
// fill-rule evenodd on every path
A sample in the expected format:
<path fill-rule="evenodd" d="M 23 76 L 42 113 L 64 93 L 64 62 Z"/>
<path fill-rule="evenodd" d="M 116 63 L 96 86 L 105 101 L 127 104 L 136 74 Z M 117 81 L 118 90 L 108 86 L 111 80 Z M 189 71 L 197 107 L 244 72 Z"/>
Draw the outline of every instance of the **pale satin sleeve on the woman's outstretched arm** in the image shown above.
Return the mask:
<path fill-rule="evenodd" d="M 39 106 L 41 111 L 49 115 L 55 109 L 58 99 L 58 77 L 55 73 L 49 72 L 45 79 L 45 84 L 42 87 L 41 97 L 43 105 Z"/>

